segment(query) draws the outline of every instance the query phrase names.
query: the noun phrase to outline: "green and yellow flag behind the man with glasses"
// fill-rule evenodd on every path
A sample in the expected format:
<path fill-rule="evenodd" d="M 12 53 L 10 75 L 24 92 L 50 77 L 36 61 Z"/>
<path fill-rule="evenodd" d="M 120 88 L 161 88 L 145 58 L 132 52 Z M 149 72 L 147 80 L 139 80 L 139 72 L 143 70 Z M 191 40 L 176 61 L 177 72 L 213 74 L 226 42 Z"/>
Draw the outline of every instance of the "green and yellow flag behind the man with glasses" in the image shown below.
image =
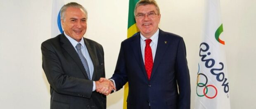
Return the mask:
<path fill-rule="evenodd" d="M 139 0 L 129 0 L 127 38 L 130 38 L 135 33 L 139 32 L 139 29 L 136 26 L 136 21 L 135 21 L 135 17 L 134 17 L 134 13 L 133 13 L 135 5 L 138 1 Z M 126 100 L 127 100 L 127 96 L 128 96 L 128 90 L 129 90 L 129 86 L 128 86 L 128 82 L 127 82 L 126 85 L 124 86 L 123 109 L 127 109 Z"/>

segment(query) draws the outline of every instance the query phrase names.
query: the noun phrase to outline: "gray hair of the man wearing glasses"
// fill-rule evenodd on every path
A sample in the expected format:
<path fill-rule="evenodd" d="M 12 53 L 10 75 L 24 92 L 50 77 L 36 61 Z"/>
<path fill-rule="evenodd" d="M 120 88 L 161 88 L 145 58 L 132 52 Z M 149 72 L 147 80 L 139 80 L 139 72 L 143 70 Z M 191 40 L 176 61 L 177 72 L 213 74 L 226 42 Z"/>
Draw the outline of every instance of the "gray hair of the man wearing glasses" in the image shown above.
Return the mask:
<path fill-rule="evenodd" d="M 139 6 L 141 6 L 141 5 L 154 5 L 155 7 L 156 7 L 156 11 L 158 12 L 158 13 L 156 13 L 156 14 L 160 14 L 160 9 L 159 9 L 159 7 L 158 7 L 158 5 L 157 5 L 157 3 L 156 3 L 156 1 L 155 0 L 140 0 L 140 1 L 138 1 L 137 2 L 137 4 L 136 4 L 136 6 L 135 6 L 135 8 L 134 8 L 134 16 L 135 16 L 135 14 L 136 14 L 136 9 L 137 9 L 137 7 L 139 7 Z"/>

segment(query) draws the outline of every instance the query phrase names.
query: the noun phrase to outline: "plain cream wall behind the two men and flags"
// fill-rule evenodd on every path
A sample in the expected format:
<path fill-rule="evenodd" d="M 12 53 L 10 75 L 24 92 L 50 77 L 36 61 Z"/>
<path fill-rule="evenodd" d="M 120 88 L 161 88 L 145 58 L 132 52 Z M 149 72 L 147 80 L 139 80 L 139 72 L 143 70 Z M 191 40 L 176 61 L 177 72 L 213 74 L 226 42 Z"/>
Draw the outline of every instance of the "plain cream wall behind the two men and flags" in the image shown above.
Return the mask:
<path fill-rule="evenodd" d="M 85 37 L 101 43 L 107 78 L 126 39 L 128 0 L 75 1 L 88 10 Z M 204 0 L 157 0 L 160 28 L 182 36 L 191 78 L 191 108 L 197 78 Z M 256 0 L 220 0 L 232 109 L 256 104 Z M 40 44 L 51 38 L 52 0 L 0 0 L 0 108 L 50 109 L 50 86 L 41 67 Z M 123 90 L 107 97 L 107 109 L 121 109 Z"/>

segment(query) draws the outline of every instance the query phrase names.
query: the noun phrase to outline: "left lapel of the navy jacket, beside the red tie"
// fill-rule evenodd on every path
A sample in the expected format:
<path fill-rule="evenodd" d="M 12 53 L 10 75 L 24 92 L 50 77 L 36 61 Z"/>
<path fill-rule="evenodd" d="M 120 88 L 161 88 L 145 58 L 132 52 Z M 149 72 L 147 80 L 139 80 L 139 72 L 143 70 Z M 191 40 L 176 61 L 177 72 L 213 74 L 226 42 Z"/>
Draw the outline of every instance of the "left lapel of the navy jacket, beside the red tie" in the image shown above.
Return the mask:
<path fill-rule="evenodd" d="M 140 69 L 142 70 L 145 78 L 147 79 L 147 73 L 145 70 L 145 65 L 144 65 L 144 61 L 143 61 L 142 53 L 141 53 L 140 33 L 137 33 L 137 35 L 133 36 L 133 37 L 135 37 L 131 43 L 131 47 L 133 49 L 133 54 L 135 55 L 137 63 L 140 65 Z"/>

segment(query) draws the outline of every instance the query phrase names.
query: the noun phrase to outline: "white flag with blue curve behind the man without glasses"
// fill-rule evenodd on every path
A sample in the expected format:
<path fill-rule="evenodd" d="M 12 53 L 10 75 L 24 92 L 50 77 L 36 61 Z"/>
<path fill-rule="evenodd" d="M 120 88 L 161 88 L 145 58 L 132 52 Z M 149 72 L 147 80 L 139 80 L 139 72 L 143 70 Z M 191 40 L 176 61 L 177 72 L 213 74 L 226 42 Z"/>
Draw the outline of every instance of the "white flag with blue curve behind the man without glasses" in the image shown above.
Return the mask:
<path fill-rule="evenodd" d="M 52 38 L 63 32 L 60 21 L 60 9 L 64 0 L 52 0 Z"/>

